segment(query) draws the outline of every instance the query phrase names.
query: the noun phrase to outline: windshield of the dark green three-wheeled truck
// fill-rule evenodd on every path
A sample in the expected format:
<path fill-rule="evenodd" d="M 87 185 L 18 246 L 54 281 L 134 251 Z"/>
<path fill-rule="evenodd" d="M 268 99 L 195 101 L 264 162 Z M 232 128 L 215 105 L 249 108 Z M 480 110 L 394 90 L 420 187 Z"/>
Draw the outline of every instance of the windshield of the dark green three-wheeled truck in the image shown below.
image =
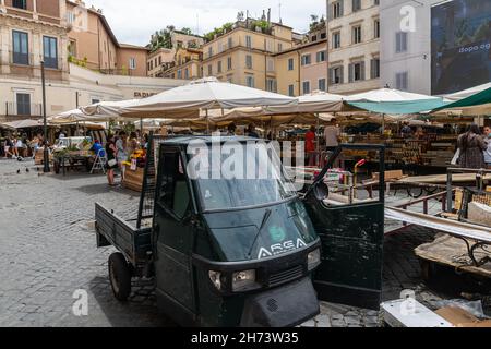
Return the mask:
<path fill-rule="evenodd" d="M 277 153 L 266 143 L 206 145 L 189 157 L 203 210 L 259 206 L 296 195 Z"/>

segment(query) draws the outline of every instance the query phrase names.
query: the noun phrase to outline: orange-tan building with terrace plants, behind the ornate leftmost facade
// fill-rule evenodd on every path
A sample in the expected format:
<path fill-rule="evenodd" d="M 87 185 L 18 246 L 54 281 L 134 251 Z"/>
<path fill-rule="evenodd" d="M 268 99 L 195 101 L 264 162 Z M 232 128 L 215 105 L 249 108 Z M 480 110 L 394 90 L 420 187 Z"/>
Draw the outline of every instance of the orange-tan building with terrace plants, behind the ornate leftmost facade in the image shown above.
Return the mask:
<path fill-rule="evenodd" d="M 99 9 L 82 0 L 65 0 L 65 22 L 72 63 L 106 74 L 147 76 L 148 50 L 120 44 Z"/>

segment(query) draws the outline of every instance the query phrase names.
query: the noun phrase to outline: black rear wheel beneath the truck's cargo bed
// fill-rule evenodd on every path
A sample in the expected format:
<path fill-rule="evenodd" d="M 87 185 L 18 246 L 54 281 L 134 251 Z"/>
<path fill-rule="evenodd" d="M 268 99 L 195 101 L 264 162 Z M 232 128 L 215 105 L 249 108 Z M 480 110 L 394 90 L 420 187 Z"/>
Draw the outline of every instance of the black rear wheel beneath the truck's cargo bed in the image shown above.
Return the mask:
<path fill-rule="evenodd" d="M 115 298 L 121 302 L 128 300 L 131 293 L 131 270 L 122 253 L 109 256 L 109 280 Z"/>

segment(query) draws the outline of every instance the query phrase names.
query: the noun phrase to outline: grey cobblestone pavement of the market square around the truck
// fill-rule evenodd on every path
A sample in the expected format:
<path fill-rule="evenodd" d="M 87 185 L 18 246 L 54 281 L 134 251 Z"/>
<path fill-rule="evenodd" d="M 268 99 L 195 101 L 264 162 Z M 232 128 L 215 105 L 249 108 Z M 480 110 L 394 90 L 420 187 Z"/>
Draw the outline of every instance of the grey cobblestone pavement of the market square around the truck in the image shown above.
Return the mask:
<path fill-rule="evenodd" d="M 139 196 L 109 189 L 104 176 L 43 174 L 33 163 L 0 159 L 0 326 L 173 326 L 157 312 L 149 281 L 134 284 L 125 304 L 112 297 L 107 258 L 113 249 L 95 246 L 95 202 L 123 212 Z M 403 289 L 439 299 L 422 286 L 412 254 L 432 237 L 412 230 L 387 239 L 385 300 Z M 73 315 L 79 289 L 88 292 L 88 316 Z M 378 325 L 378 312 L 322 303 L 322 314 L 303 326 Z"/>

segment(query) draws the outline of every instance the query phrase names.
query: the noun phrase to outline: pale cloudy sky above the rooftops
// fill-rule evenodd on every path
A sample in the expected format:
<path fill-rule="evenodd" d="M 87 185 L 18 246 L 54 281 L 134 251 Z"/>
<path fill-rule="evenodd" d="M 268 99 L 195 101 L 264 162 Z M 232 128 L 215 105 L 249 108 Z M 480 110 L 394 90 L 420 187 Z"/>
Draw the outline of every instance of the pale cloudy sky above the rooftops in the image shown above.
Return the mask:
<path fill-rule="evenodd" d="M 278 21 L 280 8 L 283 24 L 304 33 L 311 14 L 325 13 L 325 0 L 85 0 L 86 7 L 103 9 L 120 43 L 142 46 L 167 25 L 178 29 L 190 27 L 194 33 L 199 28 L 202 35 L 235 22 L 239 11 L 249 10 L 250 16 L 259 17 L 268 8 L 273 21 Z"/>

